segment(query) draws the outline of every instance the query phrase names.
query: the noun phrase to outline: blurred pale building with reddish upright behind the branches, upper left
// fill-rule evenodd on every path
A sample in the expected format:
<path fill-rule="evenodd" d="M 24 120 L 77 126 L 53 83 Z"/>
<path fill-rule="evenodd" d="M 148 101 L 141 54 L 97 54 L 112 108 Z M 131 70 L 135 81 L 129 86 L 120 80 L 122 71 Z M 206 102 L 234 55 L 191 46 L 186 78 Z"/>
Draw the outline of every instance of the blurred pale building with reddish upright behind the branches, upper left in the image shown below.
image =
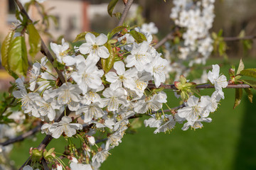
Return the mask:
<path fill-rule="evenodd" d="M 90 4 L 90 0 L 47 0 L 43 3 L 48 14 L 55 16 L 58 26 L 50 24 L 48 32 L 54 38 L 64 35 L 66 40 L 73 40 L 84 31 L 109 31 L 114 28 L 117 18 L 111 18 L 107 13 L 106 4 Z M 130 9 L 129 14 L 136 13 L 137 4 Z M 122 12 L 124 5 L 117 4 L 114 11 Z M 0 0 L 0 42 L 9 32 L 11 23 L 16 23 L 14 0 Z M 31 6 L 28 15 L 33 21 L 40 18 L 36 7 Z"/>

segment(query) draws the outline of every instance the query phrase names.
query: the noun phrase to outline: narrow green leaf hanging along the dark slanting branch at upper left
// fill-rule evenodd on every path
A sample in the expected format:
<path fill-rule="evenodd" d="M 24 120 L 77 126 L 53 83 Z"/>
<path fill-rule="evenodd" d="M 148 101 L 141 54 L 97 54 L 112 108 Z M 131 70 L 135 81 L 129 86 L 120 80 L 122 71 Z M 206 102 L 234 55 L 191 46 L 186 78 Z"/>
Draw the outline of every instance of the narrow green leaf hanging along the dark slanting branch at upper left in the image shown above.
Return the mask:
<path fill-rule="evenodd" d="M 41 37 L 38 33 L 38 30 L 36 30 L 35 26 L 33 24 L 28 25 L 28 41 L 29 45 L 31 46 L 31 49 L 29 50 L 29 55 L 31 57 L 35 58 L 36 54 L 41 50 Z"/>

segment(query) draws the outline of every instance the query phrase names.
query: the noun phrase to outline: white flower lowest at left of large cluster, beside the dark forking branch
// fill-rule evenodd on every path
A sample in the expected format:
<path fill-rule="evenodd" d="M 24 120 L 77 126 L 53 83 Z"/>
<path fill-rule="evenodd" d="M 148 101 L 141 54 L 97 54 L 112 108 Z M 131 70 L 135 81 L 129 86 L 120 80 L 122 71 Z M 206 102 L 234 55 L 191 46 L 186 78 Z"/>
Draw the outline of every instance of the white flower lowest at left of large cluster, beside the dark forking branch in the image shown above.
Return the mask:
<path fill-rule="evenodd" d="M 76 134 L 76 130 L 81 130 L 82 125 L 79 123 L 70 123 L 72 119 L 68 116 L 63 116 L 59 123 L 53 123 L 53 125 L 49 128 L 52 133 L 52 137 L 55 139 L 59 138 L 60 135 L 65 132 L 65 135 L 68 137 L 72 137 Z"/>

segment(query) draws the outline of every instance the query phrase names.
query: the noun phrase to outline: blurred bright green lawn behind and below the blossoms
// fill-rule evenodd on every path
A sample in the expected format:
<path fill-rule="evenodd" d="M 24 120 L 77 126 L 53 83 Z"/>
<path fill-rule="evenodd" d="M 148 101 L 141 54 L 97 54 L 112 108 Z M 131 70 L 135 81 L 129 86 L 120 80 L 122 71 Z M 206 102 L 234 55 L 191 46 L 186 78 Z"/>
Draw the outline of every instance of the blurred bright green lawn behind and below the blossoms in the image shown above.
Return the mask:
<path fill-rule="evenodd" d="M 239 60 L 232 61 L 238 66 Z M 216 63 L 220 60 L 208 62 Z M 245 68 L 255 65 L 255 60 L 245 60 Z M 221 67 L 227 77 L 229 68 Z M 210 114 L 213 122 L 203 123 L 202 129 L 183 131 L 182 125 L 177 125 L 170 134 L 154 135 L 154 129 L 143 125 L 138 133 L 125 135 L 101 169 L 256 169 L 256 102 L 250 103 L 244 94 L 240 106 L 233 110 L 234 91 L 224 90 L 225 99 L 218 111 Z M 213 89 L 201 92 L 210 95 Z M 174 94 L 167 93 L 169 105 L 178 106 Z M 44 136 L 37 135 L 36 142 L 26 140 L 14 145 L 11 158 L 16 166 L 26 161 L 29 148 L 37 147 Z M 53 140 L 48 148 L 61 152 L 64 145 L 65 140 Z"/>

